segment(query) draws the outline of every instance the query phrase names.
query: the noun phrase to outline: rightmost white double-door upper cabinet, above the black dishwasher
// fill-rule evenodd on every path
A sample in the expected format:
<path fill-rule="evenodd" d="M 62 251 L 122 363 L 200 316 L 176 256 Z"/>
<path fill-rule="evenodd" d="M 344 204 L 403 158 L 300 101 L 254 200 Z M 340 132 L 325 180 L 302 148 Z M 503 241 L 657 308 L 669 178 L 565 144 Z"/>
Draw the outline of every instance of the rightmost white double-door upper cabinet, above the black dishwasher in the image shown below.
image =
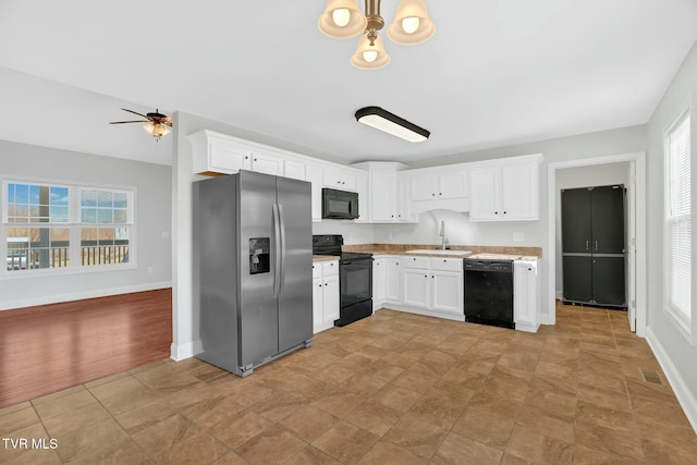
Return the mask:
<path fill-rule="evenodd" d="M 473 168 L 469 220 L 538 220 L 541 158 L 541 155 L 505 158 Z"/>

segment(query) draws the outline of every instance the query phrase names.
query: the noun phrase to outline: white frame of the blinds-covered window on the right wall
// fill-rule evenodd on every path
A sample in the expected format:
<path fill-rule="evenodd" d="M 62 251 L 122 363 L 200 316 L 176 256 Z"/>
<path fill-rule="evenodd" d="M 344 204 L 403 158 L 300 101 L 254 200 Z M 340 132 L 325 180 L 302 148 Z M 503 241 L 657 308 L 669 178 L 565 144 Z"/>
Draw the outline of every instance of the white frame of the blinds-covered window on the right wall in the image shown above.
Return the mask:
<path fill-rule="evenodd" d="M 678 332 L 689 342 L 690 345 L 697 345 L 697 240 L 695 236 L 695 207 L 697 206 L 697 166 L 695 166 L 695 140 L 697 121 L 695 118 L 695 109 L 697 109 L 697 94 L 693 93 L 689 101 L 682 108 L 678 115 L 663 131 L 663 313 L 669 316 L 669 320 L 677 328 Z M 685 315 L 682 310 L 674 308 L 670 302 L 670 246 L 671 235 L 670 227 L 674 221 L 671 216 L 671 136 L 672 133 L 681 126 L 685 119 L 689 118 L 689 224 L 690 224 L 690 252 L 689 252 L 689 269 L 690 269 L 690 305 L 689 314 Z"/>

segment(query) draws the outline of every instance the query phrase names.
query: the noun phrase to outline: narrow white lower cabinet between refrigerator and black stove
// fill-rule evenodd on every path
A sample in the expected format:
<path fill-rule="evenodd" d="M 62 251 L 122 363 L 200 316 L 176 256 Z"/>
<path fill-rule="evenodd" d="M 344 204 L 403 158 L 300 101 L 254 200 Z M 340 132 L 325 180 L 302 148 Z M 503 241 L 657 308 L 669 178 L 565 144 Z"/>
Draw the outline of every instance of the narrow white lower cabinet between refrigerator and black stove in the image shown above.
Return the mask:
<path fill-rule="evenodd" d="M 339 319 L 339 260 L 313 264 L 313 327 L 318 333 Z"/>

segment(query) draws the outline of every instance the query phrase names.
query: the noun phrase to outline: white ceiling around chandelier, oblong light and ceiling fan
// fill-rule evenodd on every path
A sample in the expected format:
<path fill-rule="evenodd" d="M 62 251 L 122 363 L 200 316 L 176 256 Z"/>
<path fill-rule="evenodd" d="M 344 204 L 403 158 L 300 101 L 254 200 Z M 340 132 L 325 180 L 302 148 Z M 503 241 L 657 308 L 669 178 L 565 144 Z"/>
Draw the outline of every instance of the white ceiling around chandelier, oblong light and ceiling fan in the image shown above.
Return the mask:
<path fill-rule="evenodd" d="M 157 107 L 346 162 L 408 162 L 646 123 L 697 39 L 695 0 L 427 4 L 433 38 L 386 39 L 392 62 L 360 71 L 357 39 L 318 30 L 321 0 L 3 0 L 0 138 L 169 163 L 171 136 L 107 124 Z M 365 106 L 431 137 L 358 124 Z"/>

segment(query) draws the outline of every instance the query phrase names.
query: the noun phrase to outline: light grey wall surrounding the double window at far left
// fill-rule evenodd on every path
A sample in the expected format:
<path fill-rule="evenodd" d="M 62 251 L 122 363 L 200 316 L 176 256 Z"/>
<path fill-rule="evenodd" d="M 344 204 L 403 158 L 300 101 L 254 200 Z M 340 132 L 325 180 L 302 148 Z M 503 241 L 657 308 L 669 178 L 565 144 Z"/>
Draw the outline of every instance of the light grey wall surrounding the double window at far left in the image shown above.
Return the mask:
<path fill-rule="evenodd" d="M 135 187 L 137 253 L 135 269 L 51 277 L 17 272 L 0 279 L 0 309 L 169 287 L 171 172 L 163 164 L 0 140 L 0 176 Z"/>

